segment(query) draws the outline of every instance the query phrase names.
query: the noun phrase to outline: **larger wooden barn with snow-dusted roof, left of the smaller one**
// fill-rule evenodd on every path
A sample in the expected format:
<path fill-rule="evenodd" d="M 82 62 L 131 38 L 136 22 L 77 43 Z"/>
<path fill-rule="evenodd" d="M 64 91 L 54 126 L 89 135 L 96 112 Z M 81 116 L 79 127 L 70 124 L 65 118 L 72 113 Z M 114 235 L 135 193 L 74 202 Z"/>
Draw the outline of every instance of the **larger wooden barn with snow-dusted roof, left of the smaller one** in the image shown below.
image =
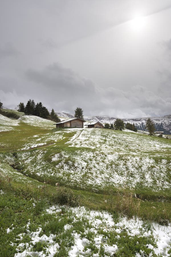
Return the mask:
<path fill-rule="evenodd" d="M 61 122 L 55 123 L 54 125 L 56 125 L 56 128 L 57 127 L 60 127 L 60 128 L 83 128 L 84 122 L 85 122 L 85 120 L 83 120 L 83 119 L 73 118 L 73 119 L 69 119 L 66 121 L 61 121 Z"/>

